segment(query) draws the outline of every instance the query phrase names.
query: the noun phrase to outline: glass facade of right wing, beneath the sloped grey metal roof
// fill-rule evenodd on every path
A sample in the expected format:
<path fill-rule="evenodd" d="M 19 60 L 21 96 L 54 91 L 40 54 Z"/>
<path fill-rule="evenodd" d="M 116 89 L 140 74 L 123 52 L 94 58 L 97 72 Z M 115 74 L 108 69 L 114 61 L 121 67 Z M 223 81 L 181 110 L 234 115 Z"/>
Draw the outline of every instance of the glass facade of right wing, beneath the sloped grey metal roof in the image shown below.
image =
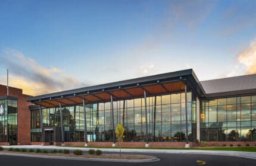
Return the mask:
<path fill-rule="evenodd" d="M 201 141 L 256 141 L 256 95 L 201 102 Z"/>

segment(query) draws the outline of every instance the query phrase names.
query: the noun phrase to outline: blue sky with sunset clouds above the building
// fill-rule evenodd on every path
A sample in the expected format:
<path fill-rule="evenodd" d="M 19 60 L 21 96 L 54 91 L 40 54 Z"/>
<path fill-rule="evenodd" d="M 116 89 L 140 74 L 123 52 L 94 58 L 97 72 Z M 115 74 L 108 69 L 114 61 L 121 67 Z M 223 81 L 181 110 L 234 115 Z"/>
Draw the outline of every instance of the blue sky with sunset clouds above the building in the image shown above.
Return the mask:
<path fill-rule="evenodd" d="M 192 68 L 256 74 L 256 1 L 0 1 L 0 84 L 41 95 Z"/>

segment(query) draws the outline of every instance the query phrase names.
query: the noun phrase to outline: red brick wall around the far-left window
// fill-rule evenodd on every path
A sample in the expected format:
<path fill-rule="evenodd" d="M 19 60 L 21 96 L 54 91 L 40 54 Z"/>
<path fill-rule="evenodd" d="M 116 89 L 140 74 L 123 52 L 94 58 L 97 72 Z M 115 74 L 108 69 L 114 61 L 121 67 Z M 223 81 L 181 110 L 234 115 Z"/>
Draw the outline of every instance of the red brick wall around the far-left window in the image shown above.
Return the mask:
<path fill-rule="evenodd" d="M 7 87 L 0 85 L 0 96 L 7 95 Z M 30 111 L 29 102 L 26 101 L 26 95 L 21 89 L 9 87 L 9 95 L 18 98 L 18 143 L 20 145 L 30 144 Z"/>

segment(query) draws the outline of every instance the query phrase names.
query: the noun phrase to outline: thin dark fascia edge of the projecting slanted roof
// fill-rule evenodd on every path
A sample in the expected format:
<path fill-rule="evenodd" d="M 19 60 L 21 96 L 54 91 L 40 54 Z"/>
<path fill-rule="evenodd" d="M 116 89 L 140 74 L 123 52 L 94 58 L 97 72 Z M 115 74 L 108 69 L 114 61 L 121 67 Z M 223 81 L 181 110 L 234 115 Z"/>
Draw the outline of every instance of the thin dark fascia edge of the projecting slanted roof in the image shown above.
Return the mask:
<path fill-rule="evenodd" d="M 51 94 L 44 94 L 44 95 L 38 95 L 35 97 L 29 97 L 27 98 L 27 101 L 35 101 L 40 100 L 43 98 L 50 98 L 50 97 L 60 97 L 65 95 L 73 95 L 73 94 L 84 94 L 85 92 L 95 92 L 95 91 L 102 91 L 104 90 L 114 90 L 118 89 L 118 87 L 121 88 L 127 88 L 127 87 L 135 87 L 137 84 L 147 84 L 150 82 L 154 82 L 157 80 L 160 81 L 166 81 L 170 79 L 179 79 L 180 76 L 186 76 L 186 75 L 192 75 L 195 79 L 196 83 L 201 87 L 200 82 L 198 81 L 198 78 L 195 76 L 195 73 L 192 69 L 186 69 L 183 71 L 176 71 L 176 72 L 168 72 L 165 74 L 158 74 L 158 75 L 151 75 L 151 76 L 144 76 L 141 78 L 133 78 L 133 79 L 127 79 L 124 81 L 117 81 L 117 82 L 110 82 L 107 84 L 99 84 L 99 85 L 93 85 L 90 87 L 84 87 L 84 88 L 77 88 L 74 90 L 67 90 L 67 91 L 61 91 L 61 92 L 54 92 Z M 202 89 L 202 87 L 201 87 Z"/>

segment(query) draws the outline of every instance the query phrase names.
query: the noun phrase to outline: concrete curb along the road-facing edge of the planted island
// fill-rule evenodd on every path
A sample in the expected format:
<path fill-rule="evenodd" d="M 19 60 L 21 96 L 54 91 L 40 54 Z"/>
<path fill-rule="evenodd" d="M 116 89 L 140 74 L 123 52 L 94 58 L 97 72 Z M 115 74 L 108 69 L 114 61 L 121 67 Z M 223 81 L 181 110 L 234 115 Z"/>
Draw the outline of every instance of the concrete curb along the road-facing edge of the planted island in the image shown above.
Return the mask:
<path fill-rule="evenodd" d="M 51 155 L 28 155 L 28 154 L 13 154 L 13 153 L 2 153 L 0 155 L 17 156 L 17 157 L 34 157 L 34 158 L 50 158 L 50 159 L 68 159 L 68 160 L 80 160 L 80 161 L 104 161 L 104 162 L 155 162 L 160 159 L 152 157 L 150 159 L 108 159 L 108 158 L 84 158 L 84 157 L 60 157 Z"/>

